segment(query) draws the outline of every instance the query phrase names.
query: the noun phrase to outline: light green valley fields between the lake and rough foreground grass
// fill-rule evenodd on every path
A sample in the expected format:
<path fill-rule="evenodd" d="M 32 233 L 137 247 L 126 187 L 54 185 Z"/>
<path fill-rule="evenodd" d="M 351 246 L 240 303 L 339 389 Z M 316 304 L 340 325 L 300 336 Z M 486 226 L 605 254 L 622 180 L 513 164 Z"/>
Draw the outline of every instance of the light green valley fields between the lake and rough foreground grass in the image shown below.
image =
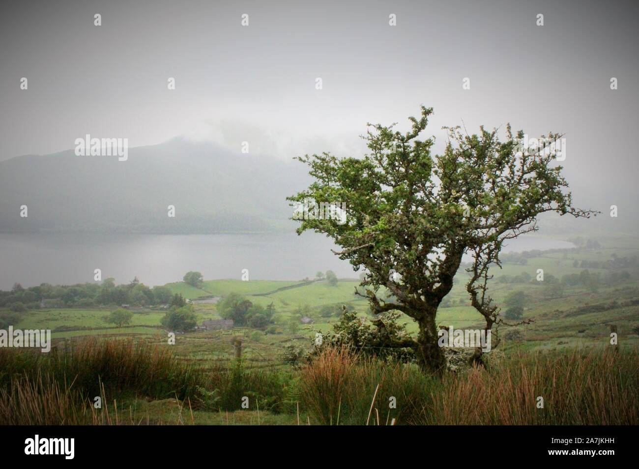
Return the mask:
<path fill-rule="evenodd" d="M 501 275 L 515 276 L 521 272 L 528 272 L 533 278 L 537 275 L 537 269 L 544 269 L 544 274 L 553 274 L 558 278 L 566 274 L 578 274 L 583 269 L 581 267 L 573 267 L 573 260 L 606 260 L 613 253 L 619 257 L 636 255 L 639 253 L 637 246 L 639 243 L 636 239 L 605 239 L 601 240 L 604 247 L 597 251 L 581 251 L 578 253 L 552 253 L 545 254 L 543 257 L 532 258 L 528 260 L 528 265 L 504 264 L 503 269 L 495 269 L 495 277 Z M 589 269 L 591 272 L 597 272 L 598 269 Z M 603 270 L 599 270 L 604 274 Z M 564 346 L 574 345 L 604 345 L 608 337 L 608 324 L 619 325 L 620 338 L 627 345 L 638 346 L 639 338 L 631 334 L 630 326 L 639 323 L 639 307 L 627 306 L 608 311 L 596 313 L 571 313 L 575 308 L 585 306 L 587 304 L 609 303 L 613 300 L 627 301 L 639 297 L 639 272 L 633 272 L 633 278 L 625 284 L 615 285 L 610 288 L 600 288 L 598 292 L 593 293 L 584 288 L 567 289 L 564 297 L 560 299 L 548 299 L 545 293 L 543 282 L 532 282 L 526 284 L 506 284 L 493 282 L 490 294 L 498 303 L 504 300 L 504 297 L 512 291 L 521 290 L 530 297 L 530 303 L 525 311 L 526 318 L 535 320 L 533 324 L 520 326 L 517 329 L 523 334 L 524 341 L 520 343 L 507 343 L 505 348 L 562 348 Z M 468 305 L 468 295 L 464 287 L 464 274 L 458 275 L 458 281 L 450 292 L 452 299 L 451 308 L 440 308 L 438 311 L 438 324 L 453 325 L 456 328 L 472 327 L 481 325 L 481 318 L 477 312 Z M 273 292 L 279 288 L 291 287 L 300 284 L 300 287 L 288 288 L 281 291 Z M 298 308 L 307 306 L 307 314 L 314 318 L 315 323 L 311 326 L 300 327 L 300 330 L 294 334 L 282 332 L 276 336 L 262 336 L 259 345 L 255 345 L 259 349 L 259 353 L 268 359 L 273 359 L 279 354 L 282 345 L 286 343 L 299 343 L 307 345 L 309 338 L 314 335 L 317 330 L 328 331 L 330 324 L 337 321 L 336 317 L 321 318 L 318 314 L 319 308 L 327 304 L 350 304 L 362 315 L 366 315 L 367 302 L 361 297 L 353 294 L 358 281 L 339 281 L 337 287 L 331 287 L 325 281 L 304 285 L 304 283 L 296 281 L 265 281 L 251 280 L 240 281 L 234 279 L 220 279 L 205 281 L 203 288 L 198 289 L 190 287 L 183 282 L 169 283 L 167 287 L 174 293 L 181 293 L 185 297 L 194 299 L 197 297 L 220 295 L 224 296 L 230 292 L 238 292 L 247 295 L 250 301 L 266 306 L 273 302 L 277 313 L 282 318 L 290 318 L 295 315 Z M 273 292 L 268 295 L 263 295 Z M 260 296 L 252 296 L 260 294 Z M 217 318 L 215 305 L 198 304 L 196 306 L 199 318 Z M 108 309 L 50 309 L 29 311 L 24 319 L 17 324 L 22 328 L 38 328 L 52 329 L 56 327 L 74 327 L 74 328 L 94 328 L 92 330 L 79 331 L 58 331 L 54 332 L 54 338 L 65 338 L 80 335 L 93 334 L 148 334 L 149 336 L 157 336 L 162 339 L 163 331 L 159 327 L 160 319 L 164 315 L 164 311 L 151 311 L 148 313 L 135 313 L 129 328 L 117 329 L 112 325 L 106 324 L 102 317 L 108 313 Z M 416 331 L 416 325 L 405 318 L 404 322 L 408 325 L 409 331 Z M 585 332 L 578 332 L 585 330 Z M 233 334 L 240 334 L 249 337 L 253 331 L 234 329 Z M 226 335 L 230 331 L 224 332 L 200 332 L 196 334 L 187 334 L 180 339 L 190 340 L 193 337 L 197 343 L 208 342 L 208 350 L 220 349 L 226 350 L 225 354 L 231 354 L 232 350 L 227 341 Z M 220 342 L 217 345 L 210 342 Z M 258 344 L 258 343 L 256 343 Z M 219 345 L 219 346 L 218 346 Z M 247 347 L 250 348 L 247 342 Z M 185 356 L 189 355 L 188 352 Z M 217 353 L 215 354 L 217 355 Z M 222 354 L 224 355 L 224 354 Z M 256 357 L 257 357 L 256 352 Z"/>

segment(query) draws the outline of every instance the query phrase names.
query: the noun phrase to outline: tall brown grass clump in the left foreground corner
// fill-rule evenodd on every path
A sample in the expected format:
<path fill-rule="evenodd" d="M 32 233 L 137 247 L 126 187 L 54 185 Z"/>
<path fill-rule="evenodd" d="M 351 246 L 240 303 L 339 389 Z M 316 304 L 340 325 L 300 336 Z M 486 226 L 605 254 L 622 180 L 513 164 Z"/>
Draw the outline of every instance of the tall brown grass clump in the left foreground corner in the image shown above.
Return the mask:
<path fill-rule="evenodd" d="M 132 340 L 82 339 L 49 355 L 0 349 L 0 424 L 118 424 L 121 399 L 186 399 L 203 382 L 168 347 Z"/>

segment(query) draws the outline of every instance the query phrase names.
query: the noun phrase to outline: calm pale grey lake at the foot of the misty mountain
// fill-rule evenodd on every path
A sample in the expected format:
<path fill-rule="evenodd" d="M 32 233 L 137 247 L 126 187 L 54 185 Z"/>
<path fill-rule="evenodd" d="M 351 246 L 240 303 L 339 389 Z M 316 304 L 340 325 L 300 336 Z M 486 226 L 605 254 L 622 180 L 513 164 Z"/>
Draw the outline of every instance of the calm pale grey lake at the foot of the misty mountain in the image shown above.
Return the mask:
<path fill-rule="evenodd" d="M 566 241 L 527 237 L 504 251 L 572 248 Z M 317 271 L 357 278 L 350 264 L 330 252 L 335 246 L 314 233 L 277 235 L 95 235 L 0 234 L 0 289 L 14 282 L 33 287 L 47 282 L 72 284 L 102 278 L 125 283 L 135 276 L 146 285 L 179 281 L 187 271 L 205 279 L 299 280 Z"/>

